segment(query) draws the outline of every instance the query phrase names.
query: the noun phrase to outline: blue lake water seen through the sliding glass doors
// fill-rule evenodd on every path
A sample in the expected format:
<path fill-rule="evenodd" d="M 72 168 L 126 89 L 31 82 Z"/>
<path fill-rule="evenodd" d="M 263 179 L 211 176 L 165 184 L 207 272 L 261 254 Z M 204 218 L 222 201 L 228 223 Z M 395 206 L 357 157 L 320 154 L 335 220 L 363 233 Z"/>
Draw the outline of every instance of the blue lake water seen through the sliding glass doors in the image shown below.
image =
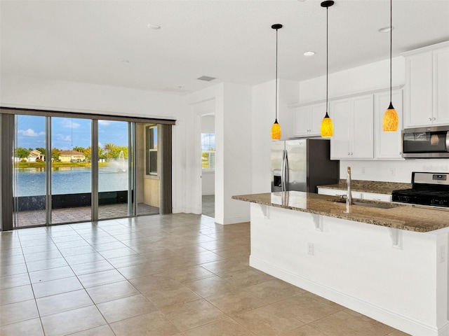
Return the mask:
<path fill-rule="evenodd" d="M 45 171 L 40 168 L 17 169 L 18 184 L 15 196 L 38 196 L 45 193 Z M 128 190 L 128 172 L 109 167 L 98 171 L 98 191 Z M 91 193 L 91 169 L 84 167 L 53 168 L 52 194 Z"/>

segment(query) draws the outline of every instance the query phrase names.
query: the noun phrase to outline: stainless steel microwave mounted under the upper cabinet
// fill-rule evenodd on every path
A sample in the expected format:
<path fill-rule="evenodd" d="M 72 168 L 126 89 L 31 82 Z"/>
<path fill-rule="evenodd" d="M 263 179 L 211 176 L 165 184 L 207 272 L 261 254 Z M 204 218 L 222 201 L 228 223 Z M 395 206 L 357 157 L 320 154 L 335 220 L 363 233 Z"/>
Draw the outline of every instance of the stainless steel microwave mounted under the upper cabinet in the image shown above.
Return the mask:
<path fill-rule="evenodd" d="M 402 130 L 403 158 L 449 158 L 449 125 Z"/>

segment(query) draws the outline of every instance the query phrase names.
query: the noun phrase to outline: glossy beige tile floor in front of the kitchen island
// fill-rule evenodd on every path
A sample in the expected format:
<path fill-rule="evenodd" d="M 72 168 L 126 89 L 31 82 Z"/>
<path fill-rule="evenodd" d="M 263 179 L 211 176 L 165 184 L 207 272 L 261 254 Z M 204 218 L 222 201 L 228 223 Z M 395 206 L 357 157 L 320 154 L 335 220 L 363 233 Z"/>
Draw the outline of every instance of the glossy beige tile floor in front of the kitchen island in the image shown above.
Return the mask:
<path fill-rule="evenodd" d="M 249 267 L 249 228 L 175 214 L 0 232 L 0 335 L 406 335 Z"/>

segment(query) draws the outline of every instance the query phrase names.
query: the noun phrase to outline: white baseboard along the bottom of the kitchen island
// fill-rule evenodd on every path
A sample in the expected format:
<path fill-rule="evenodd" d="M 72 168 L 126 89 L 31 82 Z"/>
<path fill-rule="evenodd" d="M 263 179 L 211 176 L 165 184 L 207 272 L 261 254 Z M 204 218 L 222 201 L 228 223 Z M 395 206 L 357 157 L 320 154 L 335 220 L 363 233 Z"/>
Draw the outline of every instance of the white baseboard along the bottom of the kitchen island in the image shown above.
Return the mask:
<path fill-rule="evenodd" d="M 364 302 L 356 297 L 351 297 L 347 294 L 340 293 L 333 288 L 328 288 L 305 279 L 302 276 L 287 272 L 274 265 L 250 256 L 250 266 L 259 269 L 262 272 L 270 274 L 278 279 L 291 283 L 297 287 L 307 290 L 311 293 L 324 297 L 330 301 L 341 304 L 344 307 L 358 311 L 370 318 L 374 318 L 386 325 L 396 328 L 414 336 L 449 336 L 449 323 L 436 328 L 434 325 L 427 325 L 421 321 L 417 321 L 409 316 L 397 314 L 394 311 L 389 311 L 383 307 L 378 307 L 375 304 Z"/>

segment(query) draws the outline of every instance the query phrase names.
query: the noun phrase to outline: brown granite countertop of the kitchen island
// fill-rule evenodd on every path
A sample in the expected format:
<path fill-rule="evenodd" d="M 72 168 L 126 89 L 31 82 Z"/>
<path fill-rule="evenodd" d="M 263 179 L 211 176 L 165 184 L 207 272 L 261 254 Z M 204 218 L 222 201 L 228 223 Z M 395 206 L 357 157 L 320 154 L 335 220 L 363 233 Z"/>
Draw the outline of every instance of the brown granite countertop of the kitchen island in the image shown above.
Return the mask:
<path fill-rule="evenodd" d="M 401 230 L 429 232 L 449 227 L 449 209 L 426 207 L 411 204 L 356 200 L 369 204 L 381 204 L 389 207 L 380 209 L 363 205 L 351 205 L 349 214 L 345 213 L 346 204 L 340 197 L 287 191 L 238 195 L 234 200 L 264 204 L 294 211 L 309 212 L 323 216 L 347 219 L 361 223 L 385 226 Z"/>

